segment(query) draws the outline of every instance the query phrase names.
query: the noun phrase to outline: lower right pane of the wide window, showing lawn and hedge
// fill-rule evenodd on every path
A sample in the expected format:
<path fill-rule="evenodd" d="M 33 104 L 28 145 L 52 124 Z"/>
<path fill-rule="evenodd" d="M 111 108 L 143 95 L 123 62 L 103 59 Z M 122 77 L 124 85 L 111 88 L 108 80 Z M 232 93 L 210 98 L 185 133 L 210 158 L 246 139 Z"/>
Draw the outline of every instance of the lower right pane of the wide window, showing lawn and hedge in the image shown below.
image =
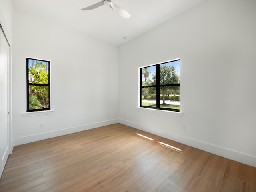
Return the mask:
<path fill-rule="evenodd" d="M 180 86 L 160 87 L 160 108 L 180 109 Z"/>

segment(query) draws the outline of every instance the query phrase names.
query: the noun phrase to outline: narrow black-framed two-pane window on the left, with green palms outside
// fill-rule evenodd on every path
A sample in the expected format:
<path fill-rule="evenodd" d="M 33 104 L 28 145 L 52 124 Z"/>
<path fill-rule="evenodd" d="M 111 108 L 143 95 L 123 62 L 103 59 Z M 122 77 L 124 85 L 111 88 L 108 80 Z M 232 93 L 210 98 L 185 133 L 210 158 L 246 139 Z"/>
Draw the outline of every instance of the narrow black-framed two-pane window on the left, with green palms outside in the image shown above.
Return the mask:
<path fill-rule="evenodd" d="M 50 61 L 26 58 L 27 112 L 50 110 Z"/>

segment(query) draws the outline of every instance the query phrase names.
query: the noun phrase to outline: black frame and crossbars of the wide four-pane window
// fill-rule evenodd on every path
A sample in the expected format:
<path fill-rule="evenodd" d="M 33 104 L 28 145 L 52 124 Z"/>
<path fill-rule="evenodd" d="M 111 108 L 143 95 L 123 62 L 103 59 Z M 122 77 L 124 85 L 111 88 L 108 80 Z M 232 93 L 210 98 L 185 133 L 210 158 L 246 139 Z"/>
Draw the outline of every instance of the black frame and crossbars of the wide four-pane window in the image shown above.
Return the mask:
<path fill-rule="evenodd" d="M 180 83 L 178 83 L 178 84 L 164 84 L 164 85 L 160 84 L 160 65 L 170 63 L 170 62 L 175 62 L 175 61 L 180 61 L 180 59 L 171 60 L 171 61 L 163 62 L 163 63 L 159 63 L 159 64 L 154 64 L 154 65 L 151 65 L 151 66 L 146 66 L 146 67 L 156 66 L 156 85 L 142 86 L 142 69 L 145 68 L 145 67 L 140 68 L 140 107 L 180 112 L 180 109 L 171 109 L 171 108 L 161 108 L 160 107 L 160 88 L 161 87 L 170 87 L 170 86 L 180 86 Z M 155 87 L 156 88 L 156 107 L 143 106 L 142 105 L 142 88 L 149 88 L 149 87 Z"/>

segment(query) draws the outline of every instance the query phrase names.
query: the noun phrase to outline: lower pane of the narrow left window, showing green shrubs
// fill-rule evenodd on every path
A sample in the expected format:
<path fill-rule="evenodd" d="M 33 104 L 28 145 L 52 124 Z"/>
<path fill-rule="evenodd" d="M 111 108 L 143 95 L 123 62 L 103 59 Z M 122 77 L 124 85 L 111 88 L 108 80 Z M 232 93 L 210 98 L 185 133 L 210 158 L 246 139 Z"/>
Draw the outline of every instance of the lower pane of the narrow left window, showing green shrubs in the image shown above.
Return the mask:
<path fill-rule="evenodd" d="M 49 87 L 48 86 L 28 86 L 29 98 L 28 108 L 47 109 L 49 108 Z"/>

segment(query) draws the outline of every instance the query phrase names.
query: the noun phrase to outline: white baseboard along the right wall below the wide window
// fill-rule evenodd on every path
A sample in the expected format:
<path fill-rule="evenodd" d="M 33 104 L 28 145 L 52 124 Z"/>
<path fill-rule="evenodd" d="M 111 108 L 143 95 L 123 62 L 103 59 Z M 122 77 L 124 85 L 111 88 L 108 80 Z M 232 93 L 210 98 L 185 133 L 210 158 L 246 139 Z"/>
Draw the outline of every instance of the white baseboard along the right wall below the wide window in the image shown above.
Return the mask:
<path fill-rule="evenodd" d="M 168 138 L 170 140 L 174 140 L 176 142 L 180 142 L 182 144 L 186 144 L 188 146 L 192 146 L 194 148 L 198 148 L 207 152 L 210 152 L 212 154 L 216 154 L 234 161 L 238 161 L 253 167 L 256 167 L 256 157 L 255 156 L 251 156 L 248 154 L 244 154 L 242 152 L 237 152 L 234 150 L 230 150 L 227 148 L 223 148 L 221 146 L 216 146 L 210 143 L 206 143 L 206 142 L 202 142 L 199 140 L 195 140 L 192 138 L 188 138 L 188 137 L 184 137 L 178 134 L 173 134 L 171 132 L 164 132 L 162 130 L 158 130 L 149 126 L 144 126 L 142 124 L 138 124 L 138 123 L 134 123 L 134 122 L 130 122 L 127 120 L 123 120 L 123 119 L 119 119 L 118 121 L 121 124 L 139 129 L 139 130 L 143 130 L 164 138 Z"/>

